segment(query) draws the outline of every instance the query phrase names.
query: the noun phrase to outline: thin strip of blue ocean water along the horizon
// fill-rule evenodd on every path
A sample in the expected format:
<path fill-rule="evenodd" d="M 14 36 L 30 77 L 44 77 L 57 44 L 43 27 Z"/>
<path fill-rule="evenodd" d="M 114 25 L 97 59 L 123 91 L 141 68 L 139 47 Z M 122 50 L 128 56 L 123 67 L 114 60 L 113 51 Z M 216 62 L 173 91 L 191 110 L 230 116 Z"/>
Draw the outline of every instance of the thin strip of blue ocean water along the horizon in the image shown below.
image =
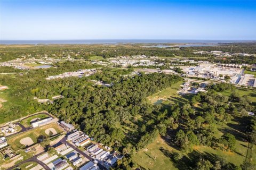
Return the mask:
<path fill-rule="evenodd" d="M 218 44 L 252 42 L 255 40 L 185 40 L 185 39 L 86 39 L 86 40 L 0 40 L 0 44 L 126 44 L 126 43 L 181 43 L 181 44 Z"/>

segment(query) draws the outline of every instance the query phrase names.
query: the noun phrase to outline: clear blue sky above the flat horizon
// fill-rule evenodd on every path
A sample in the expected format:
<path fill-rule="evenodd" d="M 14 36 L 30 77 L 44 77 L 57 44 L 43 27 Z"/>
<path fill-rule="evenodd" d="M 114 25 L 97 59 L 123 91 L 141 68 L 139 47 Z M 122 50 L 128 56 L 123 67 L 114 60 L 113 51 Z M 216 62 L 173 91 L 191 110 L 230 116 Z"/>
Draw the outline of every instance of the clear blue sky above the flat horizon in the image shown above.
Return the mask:
<path fill-rule="evenodd" d="M 256 39 L 256 1 L 0 1 L 0 39 Z"/>

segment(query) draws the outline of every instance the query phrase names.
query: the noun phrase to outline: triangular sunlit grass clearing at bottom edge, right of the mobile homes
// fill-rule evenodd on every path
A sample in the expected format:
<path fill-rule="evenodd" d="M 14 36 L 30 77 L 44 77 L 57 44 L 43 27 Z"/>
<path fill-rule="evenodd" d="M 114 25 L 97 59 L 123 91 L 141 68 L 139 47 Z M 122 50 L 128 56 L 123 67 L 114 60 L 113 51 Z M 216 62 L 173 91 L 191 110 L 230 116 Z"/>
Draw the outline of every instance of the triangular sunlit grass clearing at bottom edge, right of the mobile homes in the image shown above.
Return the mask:
<path fill-rule="evenodd" d="M 177 152 L 177 150 L 167 145 L 161 137 L 158 137 L 153 143 L 148 145 L 146 149 L 142 149 L 135 154 L 134 161 L 147 169 L 178 169 L 173 165 L 171 158 L 165 156 L 164 152 L 161 150 L 168 150 L 172 153 Z"/>

